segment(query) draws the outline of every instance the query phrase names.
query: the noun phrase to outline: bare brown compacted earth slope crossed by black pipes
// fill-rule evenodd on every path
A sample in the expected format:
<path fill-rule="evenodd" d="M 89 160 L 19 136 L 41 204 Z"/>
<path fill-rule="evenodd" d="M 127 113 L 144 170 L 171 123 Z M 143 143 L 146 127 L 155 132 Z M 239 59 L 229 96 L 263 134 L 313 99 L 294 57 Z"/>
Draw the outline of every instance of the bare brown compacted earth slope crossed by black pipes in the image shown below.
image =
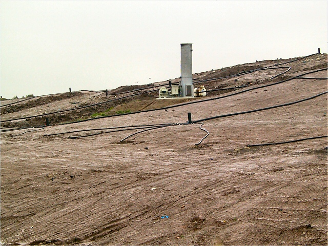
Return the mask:
<path fill-rule="evenodd" d="M 0 244 L 327 245 L 327 55 L 298 58 L 2 101 Z"/>

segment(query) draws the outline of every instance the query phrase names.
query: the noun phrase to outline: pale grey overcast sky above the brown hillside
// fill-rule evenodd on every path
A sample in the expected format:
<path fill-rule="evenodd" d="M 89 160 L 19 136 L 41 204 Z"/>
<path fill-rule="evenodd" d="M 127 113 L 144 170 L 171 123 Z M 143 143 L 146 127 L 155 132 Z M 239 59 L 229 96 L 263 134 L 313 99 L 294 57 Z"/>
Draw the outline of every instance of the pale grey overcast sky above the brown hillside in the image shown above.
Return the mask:
<path fill-rule="evenodd" d="M 114 89 L 327 53 L 327 1 L 1 1 L 1 95 Z"/>

